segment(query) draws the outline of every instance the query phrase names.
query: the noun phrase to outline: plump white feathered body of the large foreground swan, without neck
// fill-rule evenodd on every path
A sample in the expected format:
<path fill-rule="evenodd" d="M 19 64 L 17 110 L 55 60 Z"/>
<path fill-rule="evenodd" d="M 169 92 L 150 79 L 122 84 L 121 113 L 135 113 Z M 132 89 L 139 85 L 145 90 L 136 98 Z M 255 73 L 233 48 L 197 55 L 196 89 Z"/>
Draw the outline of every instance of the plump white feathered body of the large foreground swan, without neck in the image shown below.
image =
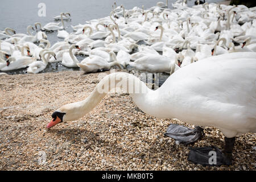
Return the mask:
<path fill-rule="evenodd" d="M 255 72 L 256 53 L 213 56 L 179 69 L 159 92 L 167 98 L 163 105 L 185 122 L 224 133 L 256 132 Z"/>

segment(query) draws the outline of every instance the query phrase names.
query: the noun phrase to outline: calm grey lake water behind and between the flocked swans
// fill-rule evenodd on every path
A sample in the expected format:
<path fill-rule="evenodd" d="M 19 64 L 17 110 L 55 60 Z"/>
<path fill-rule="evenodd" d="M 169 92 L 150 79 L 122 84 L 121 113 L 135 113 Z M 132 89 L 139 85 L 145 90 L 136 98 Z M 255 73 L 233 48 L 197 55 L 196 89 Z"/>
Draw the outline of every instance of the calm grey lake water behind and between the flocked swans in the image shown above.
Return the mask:
<path fill-rule="evenodd" d="M 162 0 L 166 2 L 166 0 Z M 172 9 L 171 4 L 176 0 L 168 1 L 168 8 Z M 206 2 L 220 2 L 222 0 L 207 0 Z M 159 0 L 1 0 L 1 13 L 0 13 L 0 30 L 4 30 L 6 27 L 13 28 L 16 33 L 27 33 L 27 26 L 36 22 L 42 23 L 42 26 L 49 22 L 55 22 L 54 16 L 60 15 L 60 13 L 71 13 L 71 20 L 64 20 L 65 30 L 69 33 L 73 32 L 71 25 L 85 24 L 86 21 L 92 19 L 103 18 L 109 16 L 112 11 L 112 5 L 114 2 L 117 6 L 123 5 L 125 9 L 133 9 L 133 7 L 142 7 L 149 9 L 152 6 L 156 6 Z M 40 10 L 39 3 L 46 5 L 46 16 L 39 16 Z M 195 0 L 188 0 L 188 6 L 193 6 Z M 34 32 L 35 34 L 36 32 Z M 47 33 L 48 40 L 53 45 L 56 42 L 63 41 L 64 39 L 57 38 L 57 32 Z M 83 60 L 84 56 L 77 56 L 79 61 Z M 131 68 L 129 68 L 131 69 Z M 64 70 L 80 70 L 80 68 L 67 68 L 60 63 L 49 63 L 47 68 L 42 72 L 59 72 Z M 0 71 L 1 72 L 1 71 Z M 25 69 L 18 69 L 15 71 L 5 72 L 10 75 L 25 74 Z M 163 80 L 168 77 L 168 74 L 161 73 Z"/>

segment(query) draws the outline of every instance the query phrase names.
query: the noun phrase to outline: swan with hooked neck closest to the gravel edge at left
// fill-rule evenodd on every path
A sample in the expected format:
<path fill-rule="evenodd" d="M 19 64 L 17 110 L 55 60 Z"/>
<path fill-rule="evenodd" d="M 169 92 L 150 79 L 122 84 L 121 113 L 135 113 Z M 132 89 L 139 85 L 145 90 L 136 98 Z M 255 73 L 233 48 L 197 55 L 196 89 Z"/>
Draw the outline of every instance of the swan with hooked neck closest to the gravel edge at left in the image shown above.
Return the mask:
<path fill-rule="evenodd" d="M 42 60 L 43 61 L 34 61 L 30 65 L 28 65 L 27 72 L 28 73 L 39 73 L 39 72 L 42 72 L 44 69 L 46 69 L 47 64 L 48 64 L 48 60 L 49 60 L 49 57 L 48 57 L 48 59 L 46 59 L 46 57 L 45 57 L 47 54 L 52 55 L 53 57 L 55 57 L 54 52 L 44 51 L 43 54 L 42 54 Z M 55 59 L 56 59 L 56 57 L 55 57 Z"/>

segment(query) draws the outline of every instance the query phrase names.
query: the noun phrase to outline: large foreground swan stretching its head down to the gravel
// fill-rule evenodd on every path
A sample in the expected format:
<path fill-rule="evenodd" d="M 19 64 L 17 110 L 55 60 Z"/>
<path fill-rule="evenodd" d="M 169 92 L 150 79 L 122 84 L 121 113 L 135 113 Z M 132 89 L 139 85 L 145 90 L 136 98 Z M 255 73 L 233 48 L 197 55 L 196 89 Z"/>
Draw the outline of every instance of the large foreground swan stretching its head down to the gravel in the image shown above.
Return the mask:
<path fill-rule="evenodd" d="M 225 135 L 224 154 L 232 158 L 234 137 L 256 132 L 256 53 L 229 53 L 189 64 L 173 73 L 157 90 L 129 73 L 104 77 L 83 101 L 52 114 L 47 128 L 75 121 L 89 113 L 113 88 L 124 89 L 144 113 L 212 126 Z"/>

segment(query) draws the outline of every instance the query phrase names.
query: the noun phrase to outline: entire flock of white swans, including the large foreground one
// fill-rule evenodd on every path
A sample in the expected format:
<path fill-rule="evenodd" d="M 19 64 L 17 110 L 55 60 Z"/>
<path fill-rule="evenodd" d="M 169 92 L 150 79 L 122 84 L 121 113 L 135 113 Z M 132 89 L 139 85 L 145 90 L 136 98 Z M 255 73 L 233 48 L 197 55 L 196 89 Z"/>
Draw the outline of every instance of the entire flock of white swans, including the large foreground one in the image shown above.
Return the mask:
<path fill-rule="evenodd" d="M 28 73 L 38 73 L 49 62 L 61 61 L 84 72 L 131 65 L 141 71 L 170 73 L 157 90 L 148 89 L 129 73 L 112 73 L 84 101 L 56 110 L 47 128 L 84 116 L 105 96 L 98 88 L 109 81 L 117 83 L 118 77 L 134 80 L 120 87 L 144 113 L 220 129 L 226 137 L 224 152 L 230 155 L 234 137 L 256 132 L 256 7 L 196 3 L 188 7 L 179 0 L 168 9 L 168 1 L 158 2 L 148 10 L 126 10 L 114 3 L 110 16 L 72 26 L 71 34 L 63 30 L 69 13 L 55 17 L 61 24 L 36 23 L 36 35 L 30 34 L 32 26 L 30 35 L 6 28 L 0 33 L 5 39 L 0 44 L 0 70 L 28 67 Z M 47 31 L 58 31 L 64 41 L 51 46 Z M 138 51 L 131 53 L 134 48 Z M 75 55 L 88 57 L 79 62 Z M 146 92 L 131 92 L 135 87 Z"/>

